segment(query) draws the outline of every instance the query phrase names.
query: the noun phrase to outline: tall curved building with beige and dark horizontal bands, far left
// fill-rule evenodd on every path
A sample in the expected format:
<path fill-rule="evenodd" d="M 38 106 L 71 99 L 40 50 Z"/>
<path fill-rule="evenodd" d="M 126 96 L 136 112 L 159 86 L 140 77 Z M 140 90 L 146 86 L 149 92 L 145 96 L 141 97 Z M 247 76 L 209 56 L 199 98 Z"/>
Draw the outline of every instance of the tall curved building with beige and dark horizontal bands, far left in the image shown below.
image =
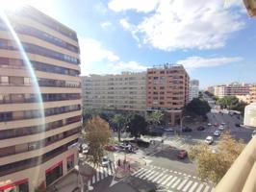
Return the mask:
<path fill-rule="evenodd" d="M 7 17 L 24 52 L 0 20 L 0 191 L 34 192 L 77 164 L 79 45 L 74 31 L 32 7 Z"/>

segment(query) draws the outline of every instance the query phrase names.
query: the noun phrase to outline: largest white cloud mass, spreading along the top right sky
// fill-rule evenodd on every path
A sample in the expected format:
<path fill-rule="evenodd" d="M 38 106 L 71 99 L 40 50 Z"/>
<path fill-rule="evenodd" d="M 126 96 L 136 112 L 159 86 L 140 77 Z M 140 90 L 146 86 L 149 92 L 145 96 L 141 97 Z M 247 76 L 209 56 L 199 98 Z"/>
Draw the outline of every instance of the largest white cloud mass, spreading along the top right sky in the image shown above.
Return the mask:
<path fill-rule="evenodd" d="M 137 1 L 141 2 L 137 7 L 130 2 L 133 1 L 113 0 L 109 7 L 115 12 L 131 9 L 145 12 L 146 9 L 141 8 L 147 6 L 148 1 Z M 224 7 L 223 0 L 197 0 L 196 3 L 192 0 L 159 0 L 156 5 L 152 8 L 154 12 L 144 16 L 138 25 L 127 19 L 121 19 L 120 24 L 140 39 L 140 43 L 161 50 L 223 47 L 228 37 L 244 26 L 241 12 L 232 12 L 238 7 L 237 1 L 231 2 L 228 8 Z"/>

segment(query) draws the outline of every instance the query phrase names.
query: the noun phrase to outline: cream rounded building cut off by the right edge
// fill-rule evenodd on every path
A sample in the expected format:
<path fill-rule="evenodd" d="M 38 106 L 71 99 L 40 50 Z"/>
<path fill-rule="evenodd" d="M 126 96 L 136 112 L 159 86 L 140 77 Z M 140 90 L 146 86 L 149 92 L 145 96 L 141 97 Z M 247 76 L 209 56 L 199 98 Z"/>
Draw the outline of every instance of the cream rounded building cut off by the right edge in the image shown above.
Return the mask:
<path fill-rule="evenodd" d="M 251 103 L 244 108 L 243 124 L 256 128 L 256 103 Z"/>

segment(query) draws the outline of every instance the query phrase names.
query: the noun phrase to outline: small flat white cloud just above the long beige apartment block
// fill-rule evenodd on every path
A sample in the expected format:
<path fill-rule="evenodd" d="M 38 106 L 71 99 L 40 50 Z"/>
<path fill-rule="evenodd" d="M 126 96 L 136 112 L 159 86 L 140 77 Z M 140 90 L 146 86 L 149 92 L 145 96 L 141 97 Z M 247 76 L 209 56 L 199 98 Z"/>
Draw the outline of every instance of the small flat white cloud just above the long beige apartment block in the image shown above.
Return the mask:
<path fill-rule="evenodd" d="M 146 66 L 142 65 L 141 63 L 137 61 L 129 61 L 129 62 L 117 62 L 117 63 L 111 63 L 108 65 L 114 73 L 120 73 L 123 71 L 132 71 L 132 72 L 140 72 L 145 71 Z"/>

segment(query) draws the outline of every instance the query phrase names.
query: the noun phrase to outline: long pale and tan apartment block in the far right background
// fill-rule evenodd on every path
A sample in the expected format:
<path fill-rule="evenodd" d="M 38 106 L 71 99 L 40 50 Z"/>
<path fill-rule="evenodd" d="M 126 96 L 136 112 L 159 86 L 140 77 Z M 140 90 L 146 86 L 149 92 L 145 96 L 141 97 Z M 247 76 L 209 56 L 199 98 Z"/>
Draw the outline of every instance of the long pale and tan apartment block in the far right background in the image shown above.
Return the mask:
<path fill-rule="evenodd" d="M 223 84 L 215 86 L 215 95 L 219 98 L 224 96 L 236 96 L 249 94 L 250 84 Z"/>

